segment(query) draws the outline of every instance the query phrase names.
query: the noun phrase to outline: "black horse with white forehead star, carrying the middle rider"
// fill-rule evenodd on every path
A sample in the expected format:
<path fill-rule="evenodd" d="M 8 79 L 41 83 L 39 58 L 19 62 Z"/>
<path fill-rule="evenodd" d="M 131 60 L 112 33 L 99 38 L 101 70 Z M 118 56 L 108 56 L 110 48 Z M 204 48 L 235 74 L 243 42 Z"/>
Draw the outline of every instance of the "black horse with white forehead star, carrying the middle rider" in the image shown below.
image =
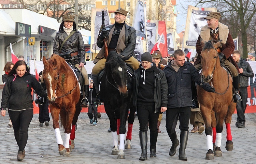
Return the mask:
<path fill-rule="evenodd" d="M 126 120 L 128 116 L 128 110 L 130 107 L 128 135 L 130 138 L 127 143 L 130 144 L 132 123 L 134 121 L 135 108 L 132 105 L 131 97 L 132 92 L 128 92 L 126 84 L 131 81 L 131 77 L 127 75 L 127 65 L 123 59 L 117 55 L 115 51 L 110 51 L 106 63 L 105 72 L 102 75 L 100 83 L 100 95 L 104 102 L 106 114 L 110 120 L 110 128 L 112 130 L 113 155 L 118 154 L 117 158 L 125 159 L 124 143 L 126 132 Z M 120 119 L 120 121 L 118 120 Z M 120 126 L 119 126 L 120 125 Z M 119 151 L 118 144 L 118 126 L 119 126 Z M 130 131 L 130 132 L 129 132 Z M 126 145 L 126 148 L 130 146 Z M 131 147 L 130 147 L 131 148 Z"/>

